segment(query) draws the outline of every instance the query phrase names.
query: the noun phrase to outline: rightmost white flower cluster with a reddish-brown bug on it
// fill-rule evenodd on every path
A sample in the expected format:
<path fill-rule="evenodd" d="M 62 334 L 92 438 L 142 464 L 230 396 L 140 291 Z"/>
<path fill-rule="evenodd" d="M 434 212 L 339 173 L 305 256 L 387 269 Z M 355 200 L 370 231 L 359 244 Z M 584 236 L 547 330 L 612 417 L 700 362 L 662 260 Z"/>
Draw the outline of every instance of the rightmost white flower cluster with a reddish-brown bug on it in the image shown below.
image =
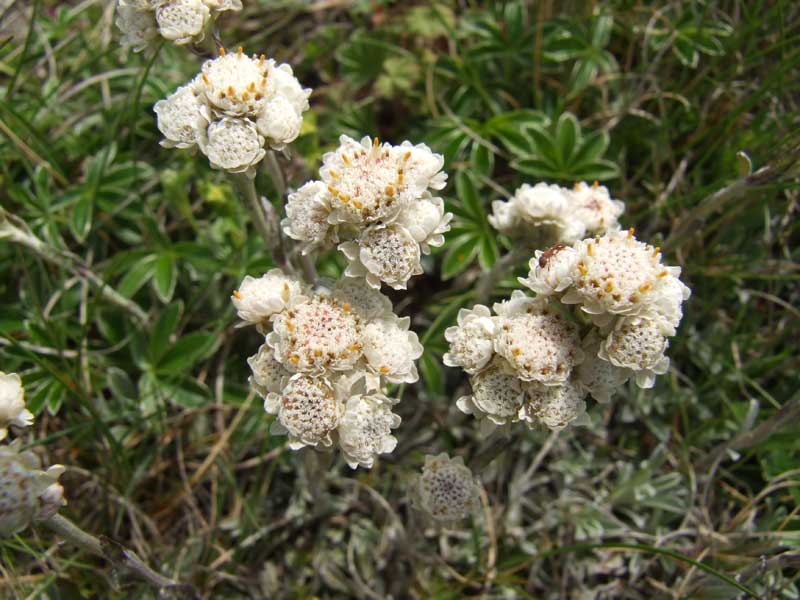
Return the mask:
<path fill-rule="evenodd" d="M 584 340 L 581 379 L 605 402 L 630 377 L 650 388 L 667 371 L 668 338 L 691 293 L 680 273 L 680 267 L 661 262 L 660 248 L 637 240 L 631 229 L 537 251 L 520 282 L 588 314 L 595 328 Z"/>

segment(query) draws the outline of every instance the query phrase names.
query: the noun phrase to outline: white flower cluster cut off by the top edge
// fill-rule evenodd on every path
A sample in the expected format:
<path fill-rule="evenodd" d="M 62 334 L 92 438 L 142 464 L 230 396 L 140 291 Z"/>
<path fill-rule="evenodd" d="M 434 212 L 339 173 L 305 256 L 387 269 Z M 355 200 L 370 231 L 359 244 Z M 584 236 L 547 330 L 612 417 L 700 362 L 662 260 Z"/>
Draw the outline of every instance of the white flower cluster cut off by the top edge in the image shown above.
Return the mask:
<path fill-rule="evenodd" d="M 144 50 L 160 35 L 176 44 L 202 42 L 220 13 L 242 10 L 241 0 L 117 0 L 122 45 Z"/>

